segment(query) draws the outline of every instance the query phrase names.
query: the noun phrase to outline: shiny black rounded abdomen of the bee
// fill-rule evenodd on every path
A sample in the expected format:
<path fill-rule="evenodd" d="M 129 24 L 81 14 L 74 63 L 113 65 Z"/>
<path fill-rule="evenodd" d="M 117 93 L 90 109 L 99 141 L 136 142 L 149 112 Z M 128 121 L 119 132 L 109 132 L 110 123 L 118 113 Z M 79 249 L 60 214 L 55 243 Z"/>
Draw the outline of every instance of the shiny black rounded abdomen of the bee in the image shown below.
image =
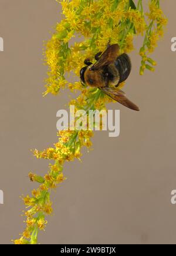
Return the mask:
<path fill-rule="evenodd" d="M 115 61 L 115 66 L 119 70 L 119 75 L 120 75 L 119 83 L 124 82 L 128 78 L 131 72 L 130 57 L 126 53 L 123 53 Z"/>

